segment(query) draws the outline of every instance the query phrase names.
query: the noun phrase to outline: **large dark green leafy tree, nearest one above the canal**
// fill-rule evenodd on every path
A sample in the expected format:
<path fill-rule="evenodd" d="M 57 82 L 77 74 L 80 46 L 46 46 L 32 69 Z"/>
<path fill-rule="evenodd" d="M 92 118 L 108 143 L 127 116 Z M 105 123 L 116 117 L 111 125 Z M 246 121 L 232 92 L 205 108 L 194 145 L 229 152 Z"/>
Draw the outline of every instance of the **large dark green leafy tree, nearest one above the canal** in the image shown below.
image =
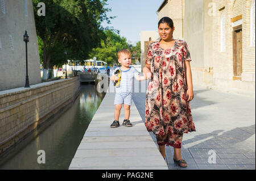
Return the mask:
<path fill-rule="evenodd" d="M 103 20 L 110 21 L 104 6 L 108 0 L 33 0 L 36 33 L 42 40 L 44 69 L 61 64 L 64 49 L 68 57 L 84 59 L 101 43 Z M 37 5 L 46 5 L 46 16 L 37 15 Z M 63 54 L 63 56 L 60 56 Z M 63 59 L 62 59 L 63 58 Z"/>

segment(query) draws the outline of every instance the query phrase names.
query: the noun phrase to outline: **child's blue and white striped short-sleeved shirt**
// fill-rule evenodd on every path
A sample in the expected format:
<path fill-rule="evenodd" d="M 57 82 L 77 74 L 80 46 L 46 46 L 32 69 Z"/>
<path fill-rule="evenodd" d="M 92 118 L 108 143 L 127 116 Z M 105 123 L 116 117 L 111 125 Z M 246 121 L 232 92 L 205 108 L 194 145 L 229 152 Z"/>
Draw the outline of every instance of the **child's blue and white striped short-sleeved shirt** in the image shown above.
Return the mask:
<path fill-rule="evenodd" d="M 116 68 L 112 75 L 117 69 L 121 70 L 121 68 Z M 130 67 L 125 71 L 121 70 L 121 82 L 119 86 L 115 87 L 115 91 L 122 93 L 133 92 L 133 82 L 136 75 L 139 75 L 139 72 L 134 67 Z"/>

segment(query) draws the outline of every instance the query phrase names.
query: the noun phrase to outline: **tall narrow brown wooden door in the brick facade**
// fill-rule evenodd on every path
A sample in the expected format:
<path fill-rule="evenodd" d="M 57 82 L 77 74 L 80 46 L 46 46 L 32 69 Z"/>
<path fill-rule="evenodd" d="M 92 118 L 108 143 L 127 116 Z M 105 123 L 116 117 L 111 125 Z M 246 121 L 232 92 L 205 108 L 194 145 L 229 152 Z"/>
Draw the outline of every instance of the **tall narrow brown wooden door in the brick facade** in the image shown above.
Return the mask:
<path fill-rule="evenodd" d="M 234 79 L 241 80 L 242 74 L 242 28 L 233 31 L 233 70 Z"/>

